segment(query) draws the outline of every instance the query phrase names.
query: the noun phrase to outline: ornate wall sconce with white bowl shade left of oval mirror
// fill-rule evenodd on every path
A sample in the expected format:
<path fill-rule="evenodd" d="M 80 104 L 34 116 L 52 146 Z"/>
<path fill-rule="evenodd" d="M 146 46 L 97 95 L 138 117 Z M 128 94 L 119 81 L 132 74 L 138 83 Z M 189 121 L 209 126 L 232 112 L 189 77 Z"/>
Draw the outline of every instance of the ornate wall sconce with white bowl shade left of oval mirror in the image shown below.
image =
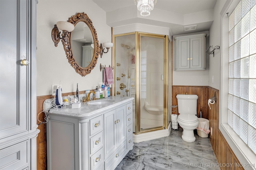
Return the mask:
<path fill-rule="evenodd" d="M 67 21 L 58 21 L 54 28 L 52 29 L 52 41 L 54 42 L 55 47 L 58 46 L 60 39 L 62 39 L 62 43 L 68 42 L 68 32 L 73 31 L 75 26 Z M 62 31 L 62 37 L 60 37 L 60 31 Z"/>

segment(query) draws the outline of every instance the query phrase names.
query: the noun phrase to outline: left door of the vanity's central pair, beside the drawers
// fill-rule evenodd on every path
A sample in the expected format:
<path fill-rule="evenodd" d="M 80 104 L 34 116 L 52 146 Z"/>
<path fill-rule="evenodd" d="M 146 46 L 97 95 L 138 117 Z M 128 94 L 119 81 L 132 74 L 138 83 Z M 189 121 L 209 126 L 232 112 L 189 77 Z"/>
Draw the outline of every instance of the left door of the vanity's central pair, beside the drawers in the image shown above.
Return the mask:
<path fill-rule="evenodd" d="M 104 114 L 104 155 L 107 158 L 117 148 L 116 110 Z"/>

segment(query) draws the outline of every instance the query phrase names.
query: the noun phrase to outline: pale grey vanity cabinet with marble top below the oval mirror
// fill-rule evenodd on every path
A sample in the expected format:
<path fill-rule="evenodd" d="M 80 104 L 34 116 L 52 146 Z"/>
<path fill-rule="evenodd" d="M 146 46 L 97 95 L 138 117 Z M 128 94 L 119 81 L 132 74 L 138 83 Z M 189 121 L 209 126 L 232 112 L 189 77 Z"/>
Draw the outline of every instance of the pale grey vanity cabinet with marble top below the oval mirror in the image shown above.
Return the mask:
<path fill-rule="evenodd" d="M 133 98 L 120 99 L 110 106 L 82 103 L 80 109 L 51 109 L 48 169 L 114 170 L 133 147 Z"/>

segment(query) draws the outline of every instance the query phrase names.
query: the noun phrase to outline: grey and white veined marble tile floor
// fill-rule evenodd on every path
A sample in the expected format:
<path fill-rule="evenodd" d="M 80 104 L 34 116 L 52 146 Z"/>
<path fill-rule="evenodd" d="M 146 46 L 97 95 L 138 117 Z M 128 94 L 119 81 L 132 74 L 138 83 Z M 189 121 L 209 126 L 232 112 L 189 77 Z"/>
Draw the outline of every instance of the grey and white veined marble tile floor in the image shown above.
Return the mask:
<path fill-rule="evenodd" d="M 182 129 L 170 136 L 134 143 L 115 170 L 220 170 L 209 138 L 196 134 L 195 142 L 182 138 Z"/>

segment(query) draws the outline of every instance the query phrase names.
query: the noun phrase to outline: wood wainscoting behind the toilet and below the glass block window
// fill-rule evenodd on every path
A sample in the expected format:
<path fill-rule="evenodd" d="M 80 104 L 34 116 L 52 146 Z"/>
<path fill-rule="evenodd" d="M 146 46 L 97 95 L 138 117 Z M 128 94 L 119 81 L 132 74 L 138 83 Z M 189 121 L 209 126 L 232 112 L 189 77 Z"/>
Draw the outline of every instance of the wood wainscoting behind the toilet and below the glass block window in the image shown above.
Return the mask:
<path fill-rule="evenodd" d="M 217 101 L 215 104 L 208 107 L 208 99 L 213 97 L 216 92 Z M 212 149 L 222 170 L 243 170 L 244 168 L 235 166 L 240 164 L 236 155 L 228 145 L 226 139 L 223 137 L 219 130 L 219 90 L 211 88 L 209 86 L 172 86 L 172 105 L 177 105 L 177 94 L 196 94 L 198 95 L 197 115 L 200 117 L 200 111 L 202 111 L 202 117 L 208 119 L 210 122 L 210 128 L 212 127 L 212 135 L 209 135 Z M 173 109 L 173 108 L 172 108 Z"/>

